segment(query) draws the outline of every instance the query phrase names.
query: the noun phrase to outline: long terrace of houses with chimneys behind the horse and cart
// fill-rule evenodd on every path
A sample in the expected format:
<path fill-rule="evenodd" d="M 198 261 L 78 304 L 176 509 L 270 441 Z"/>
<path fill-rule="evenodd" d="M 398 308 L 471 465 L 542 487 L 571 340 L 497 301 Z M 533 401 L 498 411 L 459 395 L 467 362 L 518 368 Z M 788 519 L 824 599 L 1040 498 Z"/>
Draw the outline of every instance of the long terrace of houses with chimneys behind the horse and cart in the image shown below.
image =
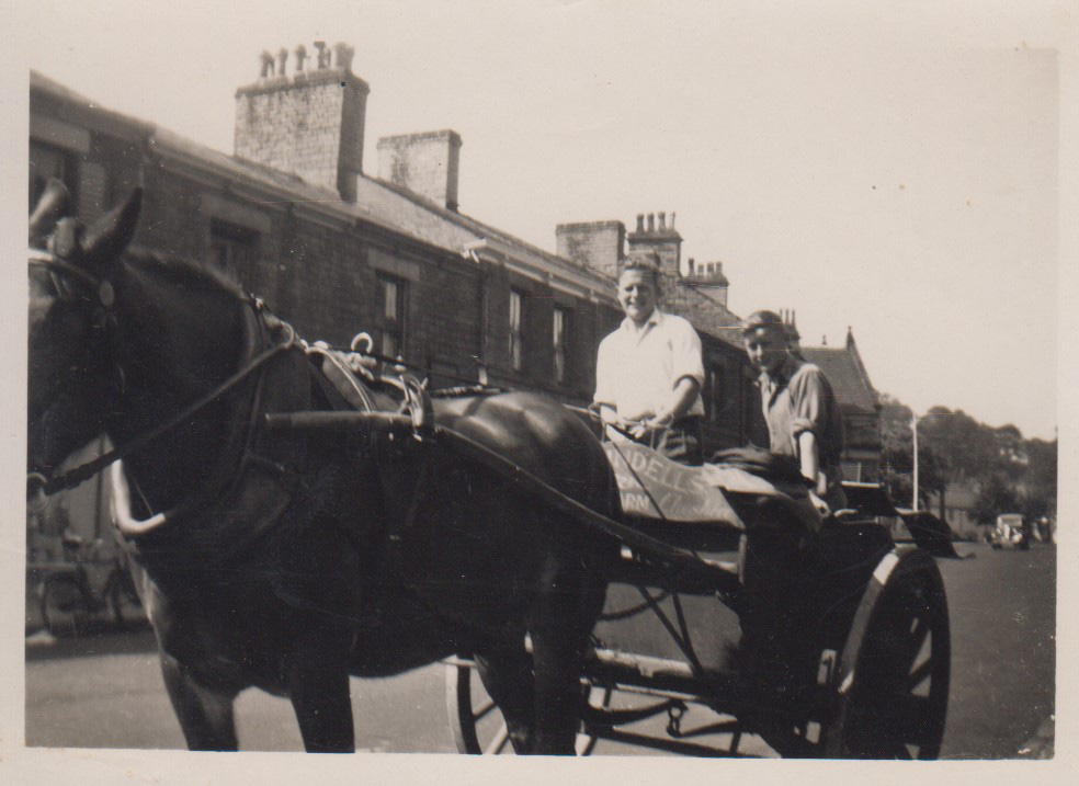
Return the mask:
<path fill-rule="evenodd" d="M 709 448 L 761 441 L 738 318 L 681 281 L 673 215 L 669 227 L 663 214 L 658 227 L 638 217 L 628 235 L 617 221 L 564 225 L 558 253 L 544 251 L 458 212 L 452 130 L 381 139 L 378 174 L 366 174 L 368 87 L 351 70 L 351 47 L 316 47 L 262 56 L 258 79 L 236 92 L 234 155 L 32 73 L 31 204 L 56 175 L 91 223 L 141 184 L 135 246 L 223 269 L 305 338 L 344 345 L 365 330 L 434 387 L 486 374 L 577 403 L 590 400 L 597 346 L 622 318 L 618 261 L 651 249 L 667 308 L 702 334 Z M 100 535 L 92 483 L 76 490 L 87 497 L 78 506 L 98 511 Z"/>

